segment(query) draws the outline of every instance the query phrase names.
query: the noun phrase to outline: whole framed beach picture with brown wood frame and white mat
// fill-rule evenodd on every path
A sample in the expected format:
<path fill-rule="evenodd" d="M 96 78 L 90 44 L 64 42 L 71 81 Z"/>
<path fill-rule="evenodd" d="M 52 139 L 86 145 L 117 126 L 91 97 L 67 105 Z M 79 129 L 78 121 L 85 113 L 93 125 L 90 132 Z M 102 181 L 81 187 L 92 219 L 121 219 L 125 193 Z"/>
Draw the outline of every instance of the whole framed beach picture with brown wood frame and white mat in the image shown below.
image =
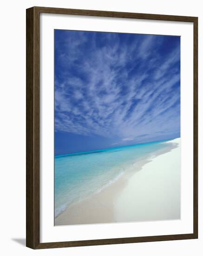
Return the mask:
<path fill-rule="evenodd" d="M 197 17 L 26 10 L 26 246 L 198 237 Z"/>

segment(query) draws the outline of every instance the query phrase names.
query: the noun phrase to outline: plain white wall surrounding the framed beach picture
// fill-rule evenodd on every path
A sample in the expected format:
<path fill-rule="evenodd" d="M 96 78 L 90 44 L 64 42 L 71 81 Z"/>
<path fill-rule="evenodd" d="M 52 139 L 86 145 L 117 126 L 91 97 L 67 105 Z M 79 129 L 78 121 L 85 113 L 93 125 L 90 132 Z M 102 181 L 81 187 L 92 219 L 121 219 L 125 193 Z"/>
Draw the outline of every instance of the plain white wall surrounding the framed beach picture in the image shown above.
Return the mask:
<path fill-rule="evenodd" d="M 199 239 L 32 250 L 26 237 L 26 8 L 64 7 L 199 17 L 199 131 L 203 130 L 203 1 L 26 0 L 1 2 L 0 252 L 2 255 L 202 255 L 203 133 L 199 132 Z M 202 101 L 202 102 L 201 102 Z"/>

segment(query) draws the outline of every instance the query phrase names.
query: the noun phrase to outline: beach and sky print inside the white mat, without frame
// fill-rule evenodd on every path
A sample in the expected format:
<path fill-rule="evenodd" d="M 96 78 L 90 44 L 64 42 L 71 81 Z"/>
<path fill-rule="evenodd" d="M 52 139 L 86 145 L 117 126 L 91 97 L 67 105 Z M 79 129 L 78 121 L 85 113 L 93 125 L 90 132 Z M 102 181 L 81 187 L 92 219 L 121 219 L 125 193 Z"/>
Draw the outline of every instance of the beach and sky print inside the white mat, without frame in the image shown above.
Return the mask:
<path fill-rule="evenodd" d="M 177 220 L 180 36 L 54 30 L 54 224 Z"/>

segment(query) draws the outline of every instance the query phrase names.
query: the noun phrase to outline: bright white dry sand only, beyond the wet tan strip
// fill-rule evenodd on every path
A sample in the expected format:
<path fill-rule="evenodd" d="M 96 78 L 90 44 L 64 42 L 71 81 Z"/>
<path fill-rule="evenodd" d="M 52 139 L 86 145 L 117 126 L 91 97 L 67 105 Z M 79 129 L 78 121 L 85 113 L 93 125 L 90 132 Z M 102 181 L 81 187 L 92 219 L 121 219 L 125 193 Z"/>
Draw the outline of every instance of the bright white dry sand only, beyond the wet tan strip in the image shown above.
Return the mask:
<path fill-rule="evenodd" d="M 180 139 L 173 142 L 180 144 Z M 180 219 L 180 147 L 131 176 L 115 202 L 115 212 L 116 222 Z"/>

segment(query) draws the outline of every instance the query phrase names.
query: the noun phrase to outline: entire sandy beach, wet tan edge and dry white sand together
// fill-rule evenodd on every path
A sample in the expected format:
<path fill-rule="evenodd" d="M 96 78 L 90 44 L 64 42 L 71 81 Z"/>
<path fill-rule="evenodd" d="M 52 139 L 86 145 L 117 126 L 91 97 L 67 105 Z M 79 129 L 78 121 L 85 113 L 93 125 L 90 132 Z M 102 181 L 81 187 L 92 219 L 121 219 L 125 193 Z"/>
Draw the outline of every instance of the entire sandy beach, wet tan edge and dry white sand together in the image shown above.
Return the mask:
<path fill-rule="evenodd" d="M 55 225 L 180 219 L 180 138 L 98 194 L 68 207 Z M 163 143 L 169 143 L 163 142 Z"/>

